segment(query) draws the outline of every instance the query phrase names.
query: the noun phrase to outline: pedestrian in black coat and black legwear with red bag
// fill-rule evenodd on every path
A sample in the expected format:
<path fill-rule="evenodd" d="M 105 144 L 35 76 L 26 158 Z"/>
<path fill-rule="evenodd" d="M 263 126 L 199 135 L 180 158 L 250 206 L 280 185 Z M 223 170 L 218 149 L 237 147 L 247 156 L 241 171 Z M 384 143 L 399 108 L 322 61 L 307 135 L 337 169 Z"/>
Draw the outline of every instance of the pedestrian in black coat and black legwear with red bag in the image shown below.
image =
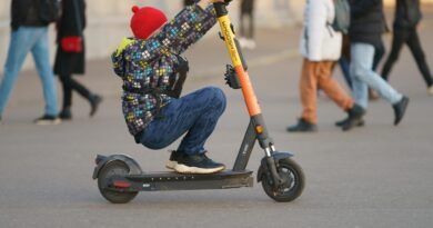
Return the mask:
<path fill-rule="evenodd" d="M 62 0 L 62 16 L 57 26 L 57 54 L 54 73 L 59 76 L 63 89 L 63 105 L 59 117 L 72 119 L 72 91 L 77 91 L 90 103 L 92 117 L 102 98 L 87 89 L 72 78 L 72 75 L 83 75 L 85 69 L 85 2 L 84 0 Z"/>

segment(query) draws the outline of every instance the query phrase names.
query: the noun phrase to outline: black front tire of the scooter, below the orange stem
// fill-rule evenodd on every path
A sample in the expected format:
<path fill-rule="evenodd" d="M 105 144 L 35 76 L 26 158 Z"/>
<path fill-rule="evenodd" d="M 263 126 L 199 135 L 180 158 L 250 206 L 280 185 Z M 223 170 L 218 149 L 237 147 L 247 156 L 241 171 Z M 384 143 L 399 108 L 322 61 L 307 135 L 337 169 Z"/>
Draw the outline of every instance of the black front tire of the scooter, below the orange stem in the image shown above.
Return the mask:
<path fill-rule="evenodd" d="M 260 169 L 264 168 L 261 166 Z M 266 175 L 268 170 L 263 170 L 262 187 L 264 192 L 279 202 L 289 202 L 301 196 L 305 181 L 302 168 L 294 160 L 284 158 L 279 160 L 276 170 L 288 181 L 278 190 L 273 190 L 272 180 Z"/>

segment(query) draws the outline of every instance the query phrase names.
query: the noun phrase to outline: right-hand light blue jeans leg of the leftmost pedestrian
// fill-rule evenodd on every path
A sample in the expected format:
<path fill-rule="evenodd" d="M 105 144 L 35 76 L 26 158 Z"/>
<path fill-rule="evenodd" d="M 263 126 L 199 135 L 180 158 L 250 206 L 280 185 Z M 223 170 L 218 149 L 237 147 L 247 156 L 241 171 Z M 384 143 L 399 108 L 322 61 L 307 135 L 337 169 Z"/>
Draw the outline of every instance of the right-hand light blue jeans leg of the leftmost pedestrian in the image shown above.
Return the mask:
<path fill-rule="evenodd" d="M 57 89 L 54 83 L 54 75 L 50 67 L 50 57 L 48 49 L 48 28 L 38 29 L 37 40 L 31 49 L 34 63 L 38 70 L 39 78 L 42 81 L 43 98 L 46 100 L 46 115 L 57 116 Z"/>

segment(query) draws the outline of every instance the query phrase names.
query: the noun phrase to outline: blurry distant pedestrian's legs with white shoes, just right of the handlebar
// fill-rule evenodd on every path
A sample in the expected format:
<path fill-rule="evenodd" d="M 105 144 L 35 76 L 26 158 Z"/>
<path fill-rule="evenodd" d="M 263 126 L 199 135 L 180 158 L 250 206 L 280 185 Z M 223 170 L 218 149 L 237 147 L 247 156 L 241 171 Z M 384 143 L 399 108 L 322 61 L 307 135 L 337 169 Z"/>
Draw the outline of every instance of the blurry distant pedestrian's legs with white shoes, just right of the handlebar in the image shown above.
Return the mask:
<path fill-rule="evenodd" d="M 242 48 L 254 49 L 254 0 L 241 0 L 240 10 L 239 42 Z"/>

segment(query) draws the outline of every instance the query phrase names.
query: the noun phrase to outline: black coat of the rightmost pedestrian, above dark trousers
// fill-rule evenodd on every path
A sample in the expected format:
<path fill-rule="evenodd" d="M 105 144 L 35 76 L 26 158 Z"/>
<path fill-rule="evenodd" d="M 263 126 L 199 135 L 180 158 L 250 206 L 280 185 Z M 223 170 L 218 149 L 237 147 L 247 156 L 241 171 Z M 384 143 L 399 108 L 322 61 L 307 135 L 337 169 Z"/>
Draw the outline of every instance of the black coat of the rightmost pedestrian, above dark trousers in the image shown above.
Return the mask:
<path fill-rule="evenodd" d="M 394 28 L 415 28 L 421 18 L 420 0 L 396 0 Z"/>

